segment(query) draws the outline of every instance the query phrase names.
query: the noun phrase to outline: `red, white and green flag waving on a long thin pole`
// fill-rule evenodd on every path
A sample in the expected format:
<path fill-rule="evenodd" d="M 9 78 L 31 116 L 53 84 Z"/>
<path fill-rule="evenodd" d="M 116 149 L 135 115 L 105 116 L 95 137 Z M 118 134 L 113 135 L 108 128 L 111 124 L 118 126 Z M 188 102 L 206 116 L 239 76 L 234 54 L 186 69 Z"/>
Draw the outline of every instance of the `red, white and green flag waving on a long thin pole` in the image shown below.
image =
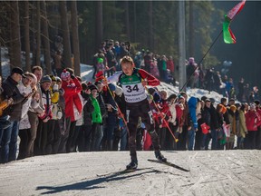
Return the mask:
<path fill-rule="evenodd" d="M 236 37 L 230 29 L 230 23 L 233 20 L 233 18 L 235 17 L 235 15 L 237 15 L 243 9 L 245 3 L 246 3 L 246 0 L 241 1 L 235 7 L 233 7 L 227 13 L 227 15 L 225 15 L 225 21 L 223 23 L 223 36 L 224 36 L 224 42 L 226 44 L 235 44 L 236 43 Z"/>

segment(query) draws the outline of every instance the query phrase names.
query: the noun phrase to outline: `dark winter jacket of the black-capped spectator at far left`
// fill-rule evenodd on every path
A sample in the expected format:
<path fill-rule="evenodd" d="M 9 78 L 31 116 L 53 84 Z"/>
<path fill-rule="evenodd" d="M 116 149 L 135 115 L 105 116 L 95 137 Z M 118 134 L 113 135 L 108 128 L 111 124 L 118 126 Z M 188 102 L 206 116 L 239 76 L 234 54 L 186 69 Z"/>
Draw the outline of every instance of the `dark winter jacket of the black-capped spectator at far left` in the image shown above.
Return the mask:
<path fill-rule="evenodd" d="M 24 95 L 19 92 L 17 85 L 18 83 L 15 82 L 11 76 L 8 76 L 2 83 L 4 89 L 3 96 L 5 99 L 12 98 L 14 100 L 14 103 L 9 105 L 4 111 L 5 115 L 10 116 L 10 121 L 20 121 L 22 115 Z"/>

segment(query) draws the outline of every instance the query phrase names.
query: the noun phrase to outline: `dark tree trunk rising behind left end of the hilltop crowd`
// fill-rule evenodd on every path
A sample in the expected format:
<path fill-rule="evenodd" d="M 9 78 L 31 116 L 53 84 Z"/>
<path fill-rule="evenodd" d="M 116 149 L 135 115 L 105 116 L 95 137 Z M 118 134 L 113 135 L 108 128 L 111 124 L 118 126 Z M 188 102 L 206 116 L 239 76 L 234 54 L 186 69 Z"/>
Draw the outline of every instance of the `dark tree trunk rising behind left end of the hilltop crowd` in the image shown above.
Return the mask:
<path fill-rule="evenodd" d="M 102 43 L 103 29 L 102 29 L 102 1 L 96 2 L 96 39 L 95 44 L 96 47 L 100 48 Z"/>

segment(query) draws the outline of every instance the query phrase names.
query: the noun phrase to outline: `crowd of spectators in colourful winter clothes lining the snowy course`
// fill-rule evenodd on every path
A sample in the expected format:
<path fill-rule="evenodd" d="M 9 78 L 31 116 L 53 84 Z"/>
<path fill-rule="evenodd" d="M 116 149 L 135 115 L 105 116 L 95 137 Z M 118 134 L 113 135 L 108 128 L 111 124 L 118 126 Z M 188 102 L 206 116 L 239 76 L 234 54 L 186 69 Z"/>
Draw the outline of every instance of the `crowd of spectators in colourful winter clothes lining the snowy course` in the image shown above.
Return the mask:
<path fill-rule="evenodd" d="M 93 55 L 94 82 L 82 81 L 70 68 L 61 75 L 43 75 L 41 66 L 34 66 L 32 73 L 14 67 L 3 82 L 0 78 L 0 162 L 65 152 L 128 150 L 121 86 L 102 85 L 106 77 L 121 70 L 119 61 L 125 55 L 133 55 L 130 43 L 102 43 Z M 133 59 L 136 67 L 160 81 L 176 84 L 171 56 L 142 50 Z M 188 87 L 217 91 L 224 97 L 214 103 L 206 96 L 188 99 L 185 92 L 168 94 L 149 88 L 161 150 L 261 149 L 257 87 L 250 91 L 242 78 L 236 93 L 232 78 L 221 79 L 214 69 L 203 70 L 193 57 L 186 66 Z M 150 135 L 141 119 L 136 140 L 138 150 L 151 150 Z"/>

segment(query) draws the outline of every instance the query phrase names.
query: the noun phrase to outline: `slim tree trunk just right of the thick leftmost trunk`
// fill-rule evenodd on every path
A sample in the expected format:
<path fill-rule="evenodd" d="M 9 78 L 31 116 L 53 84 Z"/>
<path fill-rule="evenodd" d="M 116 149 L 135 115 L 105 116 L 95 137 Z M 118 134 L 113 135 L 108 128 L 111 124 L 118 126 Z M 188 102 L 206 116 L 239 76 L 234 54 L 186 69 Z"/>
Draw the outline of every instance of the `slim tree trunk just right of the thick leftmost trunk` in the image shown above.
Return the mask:
<path fill-rule="evenodd" d="M 30 35 L 29 35 L 29 2 L 24 1 L 24 46 L 25 70 L 31 72 L 30 64 Z"/>

